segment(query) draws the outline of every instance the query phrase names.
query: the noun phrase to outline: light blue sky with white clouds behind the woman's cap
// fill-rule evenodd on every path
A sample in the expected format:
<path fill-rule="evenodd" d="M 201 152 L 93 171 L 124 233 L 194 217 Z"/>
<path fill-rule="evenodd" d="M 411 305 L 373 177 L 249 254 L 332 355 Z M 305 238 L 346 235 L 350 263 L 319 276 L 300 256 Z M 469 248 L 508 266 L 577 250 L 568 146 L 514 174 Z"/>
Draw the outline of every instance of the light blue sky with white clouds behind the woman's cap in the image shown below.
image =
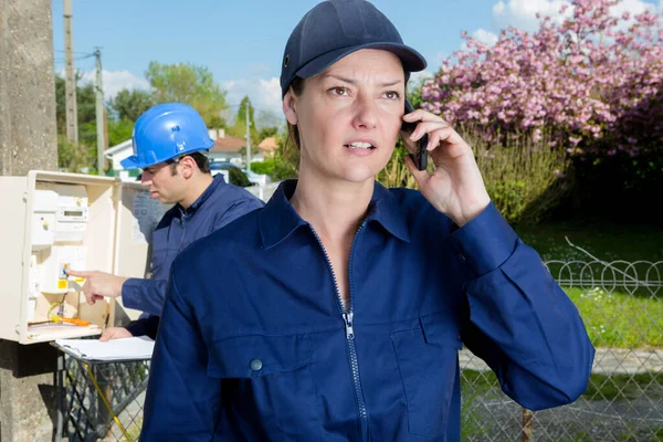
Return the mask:
<path fill-rule="evenodd" d="M 249 95 L 255 107 L 280 113 L 278 75 L 290 32 L 317 0 L 72 0 L 75 67 L 94 78 L 102 49 L 106 98 L 124 87 L 147 88 L 150 61 L 210 69 L 229 104 Z M 491 43 L 507 25 L 532 30 L 536 12 L 556 15 L 567 0 L 373 0 L 403 41 L 435 72 L 466 31 Z M 52 0 L 55 70 L 64 69 L 63 1 Z M 663 9 L 663 0 L 622 0 L 620 10 Z M 615 11 L 617 12 L 617 11 Z M 424 75 L 425 75 L 424 74 Z"/>

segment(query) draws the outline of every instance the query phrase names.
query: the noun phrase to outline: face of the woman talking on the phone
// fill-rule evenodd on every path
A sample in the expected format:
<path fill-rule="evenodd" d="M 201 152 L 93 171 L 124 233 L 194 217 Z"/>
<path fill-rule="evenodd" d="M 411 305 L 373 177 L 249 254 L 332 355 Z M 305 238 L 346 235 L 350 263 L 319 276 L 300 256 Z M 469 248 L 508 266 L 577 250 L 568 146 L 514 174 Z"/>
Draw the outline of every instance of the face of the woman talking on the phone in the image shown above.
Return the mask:
<path fill-rule="evenodd" d="M 361 50 L 304 81 L 283 108 L 301 140 L 299 173 L 364 182 L 387 165 L 401 127 L 406 81 L 391 52 Z"/>

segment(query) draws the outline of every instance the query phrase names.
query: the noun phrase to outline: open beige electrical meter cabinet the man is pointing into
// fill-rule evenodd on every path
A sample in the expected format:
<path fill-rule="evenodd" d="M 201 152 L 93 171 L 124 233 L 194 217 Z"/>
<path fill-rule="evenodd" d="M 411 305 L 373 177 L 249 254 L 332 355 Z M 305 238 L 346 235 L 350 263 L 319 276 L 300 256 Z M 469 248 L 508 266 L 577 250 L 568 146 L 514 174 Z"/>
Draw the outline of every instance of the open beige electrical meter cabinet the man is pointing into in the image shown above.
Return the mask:
<path fill-rule="evenodd" d="M 113 271 L 116 179 L 31 170 L 0 177 L 6 223 L 0 338 L 34 344 L 98 335 L 113 301 L 85 303 L 67 270 Z"/>

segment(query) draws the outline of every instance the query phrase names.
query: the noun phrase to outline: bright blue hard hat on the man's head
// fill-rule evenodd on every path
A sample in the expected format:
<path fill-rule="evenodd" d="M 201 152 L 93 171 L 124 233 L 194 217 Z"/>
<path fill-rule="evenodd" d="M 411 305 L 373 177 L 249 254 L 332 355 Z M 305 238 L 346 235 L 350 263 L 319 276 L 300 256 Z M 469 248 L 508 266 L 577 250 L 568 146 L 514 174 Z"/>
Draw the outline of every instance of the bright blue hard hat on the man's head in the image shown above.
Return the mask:
<path fill-rule="evenodd" d="M 214 146 L 200 114 L 182 103 L 165 103 L 147 109 L 134 125 L 134 155 L 119 164 L 143 169 Z"/>

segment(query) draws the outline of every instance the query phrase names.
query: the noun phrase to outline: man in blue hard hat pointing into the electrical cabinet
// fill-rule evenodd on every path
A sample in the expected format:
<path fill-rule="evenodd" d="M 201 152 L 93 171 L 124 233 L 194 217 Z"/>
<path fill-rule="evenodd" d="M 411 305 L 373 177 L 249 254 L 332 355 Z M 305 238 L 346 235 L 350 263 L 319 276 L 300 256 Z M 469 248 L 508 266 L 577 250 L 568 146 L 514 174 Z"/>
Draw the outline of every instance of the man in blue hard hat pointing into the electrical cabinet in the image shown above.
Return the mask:
<path fill-rule="evenodd" d="M 103 272 L 70 271 L 85 278 L 83 293 L 94 304 L 104 296 L 122 296 L 126 307 L 145 312 L 126 328 L 109 327 L 101 340 L 148 335 L 158 326 L 170 265 L 191 242 L 241 215 L 263 207 L 246 190 L 225 183 L 223 175 L 210 173 L 207 151 L 214 145 L 202 117 L 190 106 L 166 103 L 146 110 L 136 122 L 134 155 L 125 169 L 143 169 L 141 183 L 151 198 L 175 204 L 152 234 L 151 277 L 134 278 Z"/>

